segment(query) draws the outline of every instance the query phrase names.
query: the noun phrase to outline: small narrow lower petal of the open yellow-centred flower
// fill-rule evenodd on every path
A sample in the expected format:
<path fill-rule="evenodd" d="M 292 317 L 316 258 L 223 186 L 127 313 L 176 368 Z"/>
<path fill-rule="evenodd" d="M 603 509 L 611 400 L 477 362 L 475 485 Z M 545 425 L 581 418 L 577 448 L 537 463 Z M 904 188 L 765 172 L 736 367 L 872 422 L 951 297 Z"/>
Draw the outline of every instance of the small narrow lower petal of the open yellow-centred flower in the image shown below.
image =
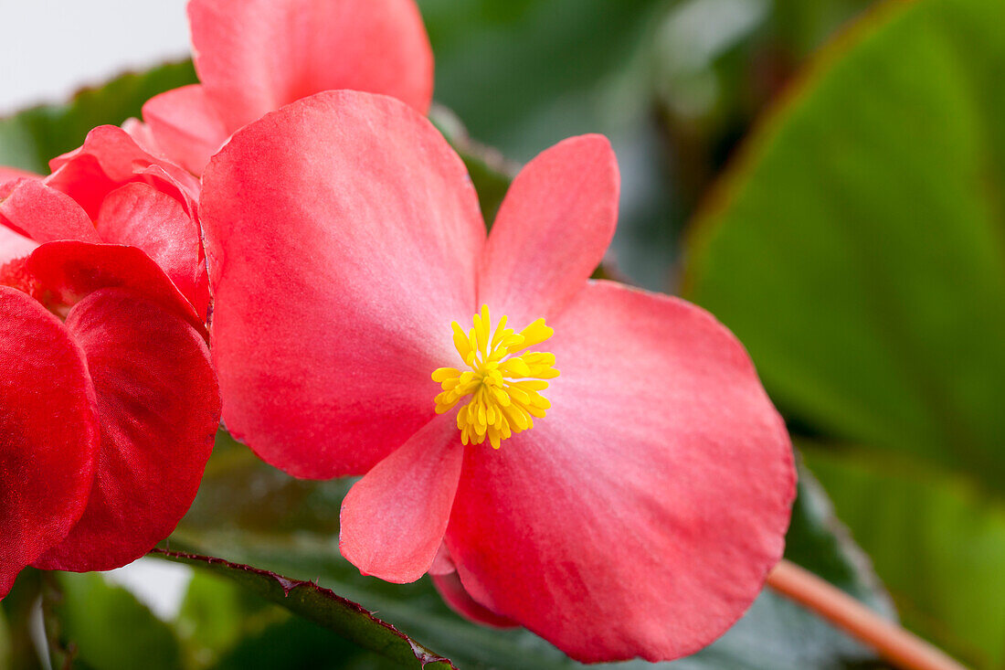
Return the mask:
<path fill-rule="evenodd" d="M 453 415 L 441 415 L 378 463 L 342 503 L 342 555 L 387 581 L 425 574 L 443 542 L 463 456 Z"/>

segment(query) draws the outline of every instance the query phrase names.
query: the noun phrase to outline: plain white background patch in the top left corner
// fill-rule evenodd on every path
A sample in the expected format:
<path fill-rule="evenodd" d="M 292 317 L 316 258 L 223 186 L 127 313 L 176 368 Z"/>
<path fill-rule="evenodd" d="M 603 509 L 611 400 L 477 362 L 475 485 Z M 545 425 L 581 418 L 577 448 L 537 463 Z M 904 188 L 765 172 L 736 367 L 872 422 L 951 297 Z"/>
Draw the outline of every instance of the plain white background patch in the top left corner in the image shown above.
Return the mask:
<path fill-rule="evenodd" d="M 185 0 L 0 0 L 0 116 L 188 55 Z"/>

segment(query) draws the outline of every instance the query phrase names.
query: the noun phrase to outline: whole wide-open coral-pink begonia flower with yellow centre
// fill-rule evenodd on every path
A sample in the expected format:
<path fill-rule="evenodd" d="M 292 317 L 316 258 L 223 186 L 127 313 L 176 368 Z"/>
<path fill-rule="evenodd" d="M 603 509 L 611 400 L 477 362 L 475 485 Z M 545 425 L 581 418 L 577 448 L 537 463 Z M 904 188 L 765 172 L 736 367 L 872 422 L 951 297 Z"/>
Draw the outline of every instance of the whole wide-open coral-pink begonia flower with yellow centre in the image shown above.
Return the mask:
<path fill-rule="evenodd" d="M 435 572 L 467 616 L 581 661 L 712 642 L 781 557 L 795 495 L 736 338 L 589 280 L 618 189 L 606 139 L 566 140 L 486 237 L 429 122 L 348 91 L 245 127 L 203 178 L 228 429 L 295 476 L 364 475 L 341 530 L 362 572 Z"/>

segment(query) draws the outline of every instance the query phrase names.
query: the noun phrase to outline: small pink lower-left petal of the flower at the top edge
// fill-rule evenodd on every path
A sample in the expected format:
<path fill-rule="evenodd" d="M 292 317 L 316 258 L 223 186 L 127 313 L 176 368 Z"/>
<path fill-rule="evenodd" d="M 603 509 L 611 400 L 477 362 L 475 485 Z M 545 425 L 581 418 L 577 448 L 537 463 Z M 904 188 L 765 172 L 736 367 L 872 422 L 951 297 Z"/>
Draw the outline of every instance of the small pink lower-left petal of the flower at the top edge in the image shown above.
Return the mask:
<path fill-rule="evenodd" d="M 195 175 L 230 132 L 198 83 L 155 96 L 143 106 L 143 118 L 156 146 Z"/>

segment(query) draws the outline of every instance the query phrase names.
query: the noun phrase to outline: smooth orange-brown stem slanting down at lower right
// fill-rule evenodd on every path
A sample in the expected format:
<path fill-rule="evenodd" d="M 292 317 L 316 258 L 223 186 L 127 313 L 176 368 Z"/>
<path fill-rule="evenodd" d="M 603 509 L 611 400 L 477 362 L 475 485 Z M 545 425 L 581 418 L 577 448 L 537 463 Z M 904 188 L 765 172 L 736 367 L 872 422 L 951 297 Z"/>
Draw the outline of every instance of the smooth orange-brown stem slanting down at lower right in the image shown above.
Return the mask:
<path fill-rule="evenodd" d="M 768 584 L 871 647 L 897 668 L 966 670 L 941 650 L 891 624 L 843 591 L 795 563 L 782 560 L 768 575 Z"/>

